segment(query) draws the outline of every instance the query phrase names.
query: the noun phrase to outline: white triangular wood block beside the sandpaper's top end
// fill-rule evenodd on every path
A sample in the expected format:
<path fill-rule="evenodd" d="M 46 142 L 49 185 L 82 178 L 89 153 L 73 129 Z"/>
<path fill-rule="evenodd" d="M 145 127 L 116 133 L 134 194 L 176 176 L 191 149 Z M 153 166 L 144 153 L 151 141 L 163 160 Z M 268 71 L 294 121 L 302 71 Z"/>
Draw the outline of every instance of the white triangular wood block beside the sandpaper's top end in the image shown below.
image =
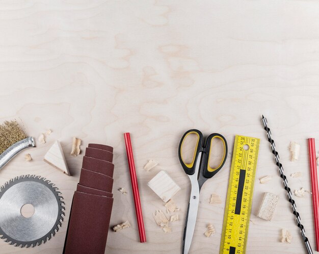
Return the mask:
<path fill-rule="evenodd" d="M 58 140 L 47 151 L 44 156 L 44 161 L 50 164 L 52 167 L 61 170 L 66 175 L 70 175 L 61 144 Z"/>

